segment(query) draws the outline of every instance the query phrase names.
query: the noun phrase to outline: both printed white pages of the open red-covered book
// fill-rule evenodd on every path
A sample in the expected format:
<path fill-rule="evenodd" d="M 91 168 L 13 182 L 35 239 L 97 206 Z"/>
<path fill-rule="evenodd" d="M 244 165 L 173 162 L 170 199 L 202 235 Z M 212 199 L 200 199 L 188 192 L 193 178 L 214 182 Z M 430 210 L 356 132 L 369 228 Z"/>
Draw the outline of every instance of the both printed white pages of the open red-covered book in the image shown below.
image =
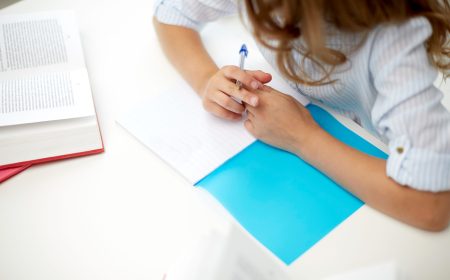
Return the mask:
<path fill-rule="evenodd" d="M 0 17 L 0 126 L 94 114 L 75 15 Z"/>

